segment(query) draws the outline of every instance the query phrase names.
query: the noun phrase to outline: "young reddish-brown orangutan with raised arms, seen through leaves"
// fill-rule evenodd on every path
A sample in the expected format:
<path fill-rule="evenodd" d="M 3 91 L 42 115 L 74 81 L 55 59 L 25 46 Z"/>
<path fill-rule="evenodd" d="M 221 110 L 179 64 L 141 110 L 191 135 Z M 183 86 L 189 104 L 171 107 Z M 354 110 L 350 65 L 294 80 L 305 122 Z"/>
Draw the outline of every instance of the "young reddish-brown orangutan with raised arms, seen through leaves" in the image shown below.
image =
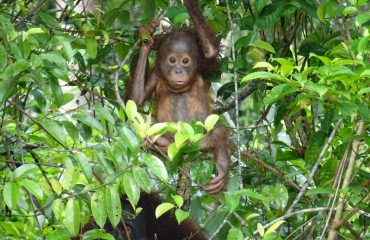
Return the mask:
<path fill-rule="evenodd" d="M 157 122 L 204 121 L 212 113 L 209 83 L 204 79 L 204 72 L 208 63 L 216 61 L 219 45 L 202 16 L 198 1 L 184 0 L 184 4 L 194 22 L 195 31 L 172 31 L 166 34 L 159 44 L 156 65 L 147 79 L 145 69 L 153 42 L 142 42 L 139 59 L 127 86 L 127 98 L 138 105 L 154 97 Z M 153 33 L 157 26 L 158 22 L 153 21 L 150 26 L 141 28 L 140 32 Z M 167 136 L 157 141 L 164 151 L 171 141 Z M 213 153 L 217 168 L 217 176 L 205 191 L 217 194 L 226 184 L 230 165 L 226 129 L 214 129 L 202 139 L 200 146 Z"/>

